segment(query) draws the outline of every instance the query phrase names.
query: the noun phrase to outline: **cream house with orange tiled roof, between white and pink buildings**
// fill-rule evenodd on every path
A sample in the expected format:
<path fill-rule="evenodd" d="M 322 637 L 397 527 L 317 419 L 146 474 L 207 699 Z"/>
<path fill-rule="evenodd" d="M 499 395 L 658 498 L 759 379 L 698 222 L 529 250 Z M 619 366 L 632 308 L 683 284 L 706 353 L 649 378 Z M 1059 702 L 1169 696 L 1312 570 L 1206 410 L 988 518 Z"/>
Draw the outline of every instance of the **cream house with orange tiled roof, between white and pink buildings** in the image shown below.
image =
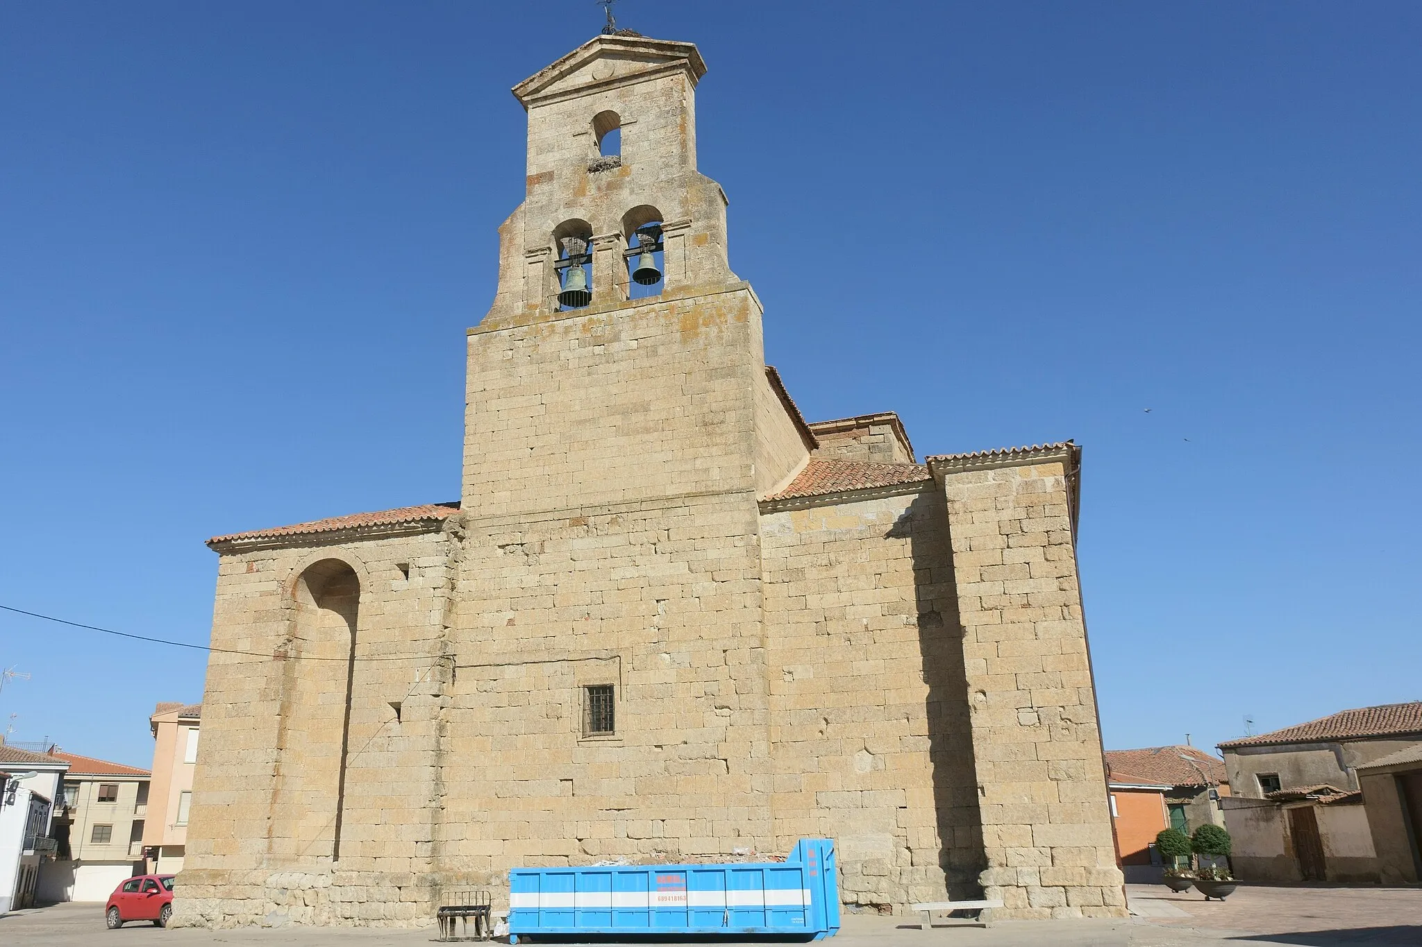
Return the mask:
<path fill-rule="evenodd" d="M 50 833 L 58 850 L 40 872 L 48 902 L 102 902 L 125 877 L 144 872 L 148 770 L 51 748 L 70 764 Z"/>

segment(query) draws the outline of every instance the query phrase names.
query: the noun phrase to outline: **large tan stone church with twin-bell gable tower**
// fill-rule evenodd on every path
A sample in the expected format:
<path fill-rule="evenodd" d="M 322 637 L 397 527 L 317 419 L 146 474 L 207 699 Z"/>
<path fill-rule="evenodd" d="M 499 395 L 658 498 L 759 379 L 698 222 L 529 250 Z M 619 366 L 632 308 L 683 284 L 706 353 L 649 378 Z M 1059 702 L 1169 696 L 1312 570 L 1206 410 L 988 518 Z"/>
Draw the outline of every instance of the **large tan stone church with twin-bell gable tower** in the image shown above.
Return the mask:
<path fill-rule="evenodd" d="M 459 503 L 209 541 L 175 923 L 419 924 L 512 866 L 802 836 L 849 904 L 1125 914 L 1081 450 L 801 416 L 697 170 L 704 71 L 623 31 L 513 88 Z"/>

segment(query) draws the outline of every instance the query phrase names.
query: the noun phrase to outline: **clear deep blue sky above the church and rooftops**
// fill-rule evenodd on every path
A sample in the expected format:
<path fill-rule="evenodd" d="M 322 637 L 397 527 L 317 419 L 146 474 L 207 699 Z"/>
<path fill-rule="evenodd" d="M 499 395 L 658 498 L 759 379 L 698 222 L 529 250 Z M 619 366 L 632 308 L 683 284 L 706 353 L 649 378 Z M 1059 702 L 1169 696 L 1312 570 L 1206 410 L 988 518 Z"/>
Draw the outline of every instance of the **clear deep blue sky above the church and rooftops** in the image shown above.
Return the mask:
<path fill-rule="evenodd" d="M 1108 747 L 1422 697 L 1422 4 L 653 3 L 811 419 L 1075 437 Z M 0 602 L 206 642 L 213 534 L 458 497 L 509 87 L 590 0 L 0 7 Z M 1145 409 L 1152 409 L 1146 413 Z M 0 613 L 14 740 L 195 652 Z"/>

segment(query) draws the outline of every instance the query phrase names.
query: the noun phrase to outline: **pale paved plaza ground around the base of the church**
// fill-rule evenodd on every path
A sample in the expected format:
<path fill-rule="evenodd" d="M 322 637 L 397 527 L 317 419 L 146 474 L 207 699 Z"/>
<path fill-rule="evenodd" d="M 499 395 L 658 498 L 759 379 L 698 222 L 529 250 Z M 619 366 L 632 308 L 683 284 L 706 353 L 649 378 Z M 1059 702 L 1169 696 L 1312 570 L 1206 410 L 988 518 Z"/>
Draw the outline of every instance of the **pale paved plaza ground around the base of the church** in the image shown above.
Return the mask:
<path fill-rule="evenodd" d="M 991 929 L 944 921 L 919 930 L 913 917 L 846 914 L 838 947 L 1189 947 L 1193 944 L 1367 944 L 1422 947 L 1419 887 L 1266 887 L 1241 885 L 1224 903 L 1194 892 L 1175 894 L 1152 885 L 1128 886 L 1130 920 L 1003 921 Z M 283 927 L 159 930 L 146 923 L 104 929 L 102 904 L 55 904 L 0 917 L 0 944 L 44 947 L 137 947 L 161 944 L 429 944 L 434 929 Z M 604 941 L 611 943 L 611 941 Z M 698 943 L 725 943 L 701 938 Z"/>

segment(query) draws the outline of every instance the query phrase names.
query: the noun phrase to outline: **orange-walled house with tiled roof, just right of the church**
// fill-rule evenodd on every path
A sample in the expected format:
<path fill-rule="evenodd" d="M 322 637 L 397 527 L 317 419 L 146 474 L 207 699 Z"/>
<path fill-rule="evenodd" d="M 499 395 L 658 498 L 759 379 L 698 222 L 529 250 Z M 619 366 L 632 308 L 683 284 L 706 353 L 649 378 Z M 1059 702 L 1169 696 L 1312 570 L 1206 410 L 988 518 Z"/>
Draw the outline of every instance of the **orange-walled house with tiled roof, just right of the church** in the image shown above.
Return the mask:
<path fill-rule="evenodd" d="M 1166 867 L 1156 835 L 1186 835 L 1200 825 L 1224 825 L 1220 798 L 1230 792 L 1224 761 L 1194 747 L 1106 751 L 1111 826 L 1126 880 L 1155 883 Z"/>

